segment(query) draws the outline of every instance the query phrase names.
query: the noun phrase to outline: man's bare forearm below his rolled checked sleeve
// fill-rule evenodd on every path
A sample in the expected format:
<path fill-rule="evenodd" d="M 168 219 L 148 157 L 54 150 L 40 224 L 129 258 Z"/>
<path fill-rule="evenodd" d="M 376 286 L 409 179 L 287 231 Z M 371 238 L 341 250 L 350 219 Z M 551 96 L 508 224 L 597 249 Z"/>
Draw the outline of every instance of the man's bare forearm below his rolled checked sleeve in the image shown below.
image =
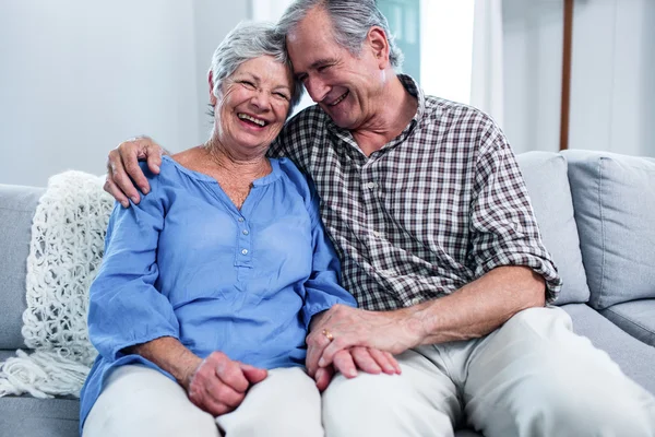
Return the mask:
<path fill-rule="evenodd" d="M 453 294 L 402 309 L 419 344 L 479 338 L 516 312 L 546 303 L 545 281 L 524 267 L 497 268 Z"/>

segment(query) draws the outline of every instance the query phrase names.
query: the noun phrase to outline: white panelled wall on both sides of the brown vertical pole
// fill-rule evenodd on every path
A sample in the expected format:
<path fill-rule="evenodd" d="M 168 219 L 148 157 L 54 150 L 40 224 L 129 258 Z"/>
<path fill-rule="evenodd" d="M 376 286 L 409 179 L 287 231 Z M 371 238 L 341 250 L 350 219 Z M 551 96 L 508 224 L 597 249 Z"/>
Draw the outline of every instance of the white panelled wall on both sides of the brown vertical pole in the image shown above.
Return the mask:
<path fill-rule="evenodd" d="M 504 0 L 505 133 L 559 150 L 562 0 Z M 576 0 L 569 146 L 655 156 L 655 1 Z"/>

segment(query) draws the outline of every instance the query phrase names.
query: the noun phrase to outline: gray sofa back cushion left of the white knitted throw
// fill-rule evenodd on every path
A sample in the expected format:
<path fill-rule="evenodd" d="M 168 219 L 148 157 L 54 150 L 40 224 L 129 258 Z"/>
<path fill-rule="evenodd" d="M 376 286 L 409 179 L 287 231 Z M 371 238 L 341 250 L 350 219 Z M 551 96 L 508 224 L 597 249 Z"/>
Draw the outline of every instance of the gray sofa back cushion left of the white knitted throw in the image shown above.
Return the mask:
<path fill-rule="evenodd" d="M 45 188 L 0 185 L 0 349 L 24 347 L 21 328 L 32 217 Z"/>

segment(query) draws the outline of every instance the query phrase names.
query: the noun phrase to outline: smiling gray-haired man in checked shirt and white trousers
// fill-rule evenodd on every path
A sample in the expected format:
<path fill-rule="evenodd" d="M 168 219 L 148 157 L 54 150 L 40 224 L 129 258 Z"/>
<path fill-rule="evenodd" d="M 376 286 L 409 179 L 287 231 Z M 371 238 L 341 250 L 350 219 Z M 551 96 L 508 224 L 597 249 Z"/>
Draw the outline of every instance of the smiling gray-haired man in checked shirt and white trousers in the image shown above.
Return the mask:
<path fill-rule="evenodd" d="M 561 281 L 492 120 L 395 73 L 373 0 L 298 0 L 279 27 L 318 105 L 271 153 L 313 178 L 360 306 L 314 316 L 307 338 L 326 435 L 452 436 L 465 420 L 498 437 L 654 436 L 653 397 L 545 305 Z M 146 192 L 136 158 L 156 170 L 159 155 L 121 144 L 106 189 L 138 201 L 128 174 Z M 356 346 L 393 353 L 402 375 L 355 378 L 376 366 Z"/>

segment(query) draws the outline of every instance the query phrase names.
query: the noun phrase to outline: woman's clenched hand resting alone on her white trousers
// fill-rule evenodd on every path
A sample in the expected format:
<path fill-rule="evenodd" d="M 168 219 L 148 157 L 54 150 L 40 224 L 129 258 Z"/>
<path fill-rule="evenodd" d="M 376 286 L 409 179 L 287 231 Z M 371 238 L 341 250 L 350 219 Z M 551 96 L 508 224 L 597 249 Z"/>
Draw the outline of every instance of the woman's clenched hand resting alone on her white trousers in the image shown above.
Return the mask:
<path fill-rule="evenodd" d="M 231 361 L 222 352 L 213 352 L 182 386 L 194 405 L 219 416 L 237 409 L 250 386 L 261 382 L 266 376 L 265 369 Z"/>

